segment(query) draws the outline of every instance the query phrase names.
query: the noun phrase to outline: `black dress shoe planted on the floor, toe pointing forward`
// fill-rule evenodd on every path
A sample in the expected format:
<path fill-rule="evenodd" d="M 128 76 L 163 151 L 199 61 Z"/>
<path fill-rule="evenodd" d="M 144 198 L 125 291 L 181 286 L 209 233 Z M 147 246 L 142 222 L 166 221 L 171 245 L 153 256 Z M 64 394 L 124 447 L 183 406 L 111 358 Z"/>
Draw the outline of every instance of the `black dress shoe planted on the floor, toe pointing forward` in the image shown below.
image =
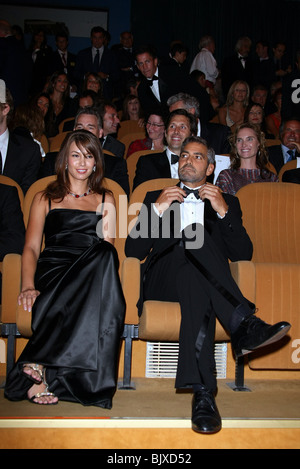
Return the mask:
<path fill-rule="evenodd" d="M 194 393 L 192 429 L 197 433 L 216 433 L 222 428 L 221 417 L 211 391 L 203 388 Z"/>

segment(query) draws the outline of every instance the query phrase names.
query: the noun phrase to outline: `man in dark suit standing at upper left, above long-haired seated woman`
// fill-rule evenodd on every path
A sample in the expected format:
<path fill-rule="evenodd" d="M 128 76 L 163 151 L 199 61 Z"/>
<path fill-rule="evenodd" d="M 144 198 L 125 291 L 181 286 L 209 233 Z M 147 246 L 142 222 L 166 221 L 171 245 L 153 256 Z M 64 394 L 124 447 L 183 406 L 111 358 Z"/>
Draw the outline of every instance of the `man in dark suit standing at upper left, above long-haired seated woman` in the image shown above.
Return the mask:
<path fill-rule="evenodd" d="M 55 36 L 57 50 L 51 57 L 51 74 L 57 71 L 64 71 L 68 75 L 71 88 L 75 85 L 74 71 L 76 65 L 76 55 L 68 51 L 69 38 L 64 31 Z"/>

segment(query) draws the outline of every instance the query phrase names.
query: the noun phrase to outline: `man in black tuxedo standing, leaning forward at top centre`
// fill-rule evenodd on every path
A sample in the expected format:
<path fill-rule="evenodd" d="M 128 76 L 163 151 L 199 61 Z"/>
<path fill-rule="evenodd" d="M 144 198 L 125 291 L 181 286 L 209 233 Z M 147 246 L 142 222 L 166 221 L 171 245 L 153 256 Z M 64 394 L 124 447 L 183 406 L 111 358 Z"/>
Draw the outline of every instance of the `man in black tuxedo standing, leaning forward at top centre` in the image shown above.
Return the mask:
<path fill-rule="evenodd" d="M 181 67 L 170 67 L 168 62 L 159 64 L 152 46 L 139 47 L 135 57 L 137 67 L 143 75 L 138 86 L 138 97 L 145 113 L 152 113 L 155 109 L 166 112 L 168 98 L 176 93 L 185 92 L 193 96 L 199 93 L 197 83 Z"/>

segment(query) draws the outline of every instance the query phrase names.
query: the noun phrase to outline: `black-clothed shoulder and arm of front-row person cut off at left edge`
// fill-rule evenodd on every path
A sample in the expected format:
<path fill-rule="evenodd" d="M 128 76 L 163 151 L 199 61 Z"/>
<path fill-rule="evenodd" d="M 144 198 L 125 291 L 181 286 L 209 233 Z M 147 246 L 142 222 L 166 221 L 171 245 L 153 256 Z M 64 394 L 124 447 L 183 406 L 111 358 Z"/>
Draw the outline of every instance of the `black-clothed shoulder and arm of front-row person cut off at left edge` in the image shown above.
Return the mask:
<path fill-rule="evenodd" d="M 0 262 L 6 254 L 22 254 L 25 227 L 16 187 L 0 184 Z M 0 272 L 0 304 L 1 304 Z"/>

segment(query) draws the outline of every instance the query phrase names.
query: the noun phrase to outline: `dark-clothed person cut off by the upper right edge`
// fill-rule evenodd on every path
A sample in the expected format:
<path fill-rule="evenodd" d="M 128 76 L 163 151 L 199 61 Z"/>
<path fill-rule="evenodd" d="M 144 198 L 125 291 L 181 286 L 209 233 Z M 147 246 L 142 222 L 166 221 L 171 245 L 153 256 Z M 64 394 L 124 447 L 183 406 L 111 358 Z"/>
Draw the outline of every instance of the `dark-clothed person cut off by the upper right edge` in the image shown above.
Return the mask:
<path fill-rule="evenodd" d="M 282 119 L 300 118 L 300 49 L 296 53 L 296 68 L 282 80 Z"/>

